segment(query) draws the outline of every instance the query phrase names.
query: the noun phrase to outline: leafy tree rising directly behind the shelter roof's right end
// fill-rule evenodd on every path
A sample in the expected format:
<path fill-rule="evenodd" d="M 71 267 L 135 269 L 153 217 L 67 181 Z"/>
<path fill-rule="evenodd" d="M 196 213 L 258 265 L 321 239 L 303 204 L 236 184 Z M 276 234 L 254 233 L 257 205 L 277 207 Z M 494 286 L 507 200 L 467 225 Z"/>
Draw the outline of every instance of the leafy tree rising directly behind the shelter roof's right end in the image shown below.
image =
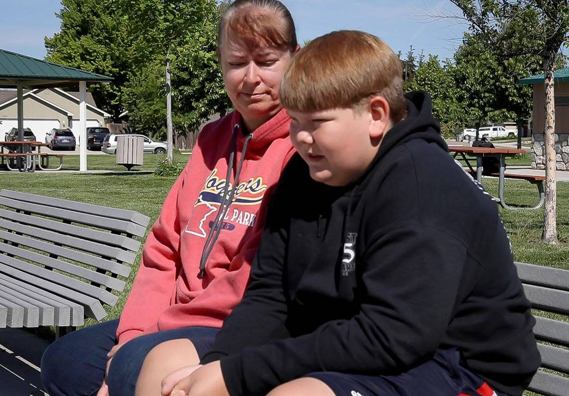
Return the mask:
<path fill-rule="evenodd" d="M 89 87 L 101 109 L 118 119 L 123 111 L 121 90 L 133 62 L 124 18 L 116 3 L 61 0 L 61 30 L 45 37 L 46 60 L 113 77 L 110 84 Z"/>

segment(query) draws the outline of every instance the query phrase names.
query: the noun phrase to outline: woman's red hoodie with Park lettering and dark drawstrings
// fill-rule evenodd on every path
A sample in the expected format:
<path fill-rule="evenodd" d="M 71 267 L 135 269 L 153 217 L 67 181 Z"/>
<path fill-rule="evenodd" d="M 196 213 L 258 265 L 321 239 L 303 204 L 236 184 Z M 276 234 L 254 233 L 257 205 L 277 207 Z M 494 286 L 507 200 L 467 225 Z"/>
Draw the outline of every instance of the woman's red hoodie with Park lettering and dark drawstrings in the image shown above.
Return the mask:
<path fill-rule="evenodd" d="M 271 191 L 294 153 L 284 110 L 248 141 L 234 111 L 201 131 L 191 160 L 168 193 L 142 252 L 142 262 L 117 329 L 119 343 L 187 326 L 221 327 L 243 297 Z M 237 128 L 237 130 L 236 130 Z M 232 203 L 205 264 L 200 259 L 224 194 L 236 132 L 230 185 L 242 162 Z"/>

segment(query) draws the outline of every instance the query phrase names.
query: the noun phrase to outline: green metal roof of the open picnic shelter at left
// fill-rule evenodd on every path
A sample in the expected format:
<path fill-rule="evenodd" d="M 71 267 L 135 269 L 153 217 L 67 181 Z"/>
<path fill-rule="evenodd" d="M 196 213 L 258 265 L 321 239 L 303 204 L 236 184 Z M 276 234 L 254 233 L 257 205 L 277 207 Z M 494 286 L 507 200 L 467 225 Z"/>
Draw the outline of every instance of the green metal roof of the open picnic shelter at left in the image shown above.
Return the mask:
<path fill-rule="evenodd" d="M 110 82 L 112 77 L 58 65 L 31 56 L 0 49 L 0 87 L 15 87 L 22 81 L 26 87 L 48 88 L 90 83 Z"/>

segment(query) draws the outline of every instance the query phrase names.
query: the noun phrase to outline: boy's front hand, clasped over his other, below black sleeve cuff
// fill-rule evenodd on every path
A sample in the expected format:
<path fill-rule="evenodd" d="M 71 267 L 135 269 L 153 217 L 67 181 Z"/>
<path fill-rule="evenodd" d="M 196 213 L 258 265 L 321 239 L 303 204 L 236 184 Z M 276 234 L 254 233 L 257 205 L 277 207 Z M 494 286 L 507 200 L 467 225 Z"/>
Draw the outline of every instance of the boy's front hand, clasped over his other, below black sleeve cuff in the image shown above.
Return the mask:
<path fill-rule="evenodd" d="M 217 360 L 195 370 L 188 377 L 178 382 L 170 393 L 171 396 L 229 396 L 221 374 L 221 365 Z"/>

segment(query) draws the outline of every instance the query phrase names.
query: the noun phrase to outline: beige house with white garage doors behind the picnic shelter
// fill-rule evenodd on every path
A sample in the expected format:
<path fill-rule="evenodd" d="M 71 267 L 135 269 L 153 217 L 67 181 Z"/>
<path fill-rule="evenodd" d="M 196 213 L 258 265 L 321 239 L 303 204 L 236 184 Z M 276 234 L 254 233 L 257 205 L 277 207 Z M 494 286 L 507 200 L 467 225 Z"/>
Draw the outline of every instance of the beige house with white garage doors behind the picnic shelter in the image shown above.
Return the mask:
<path fill-rule="evenodd" d="M 0 89 L 0 140 L 18 127 L 17 91 Z M 79 141 L 79 92 L 59 88 L 33 89 L 23 95 L 24 128 L 30 128 L 38 141 L 45 141 L 52 128 L 70 128 Z M 86 93 L 87 127 L 105 126 L 107 112 L 98 109 L 91 93 Z"/>

